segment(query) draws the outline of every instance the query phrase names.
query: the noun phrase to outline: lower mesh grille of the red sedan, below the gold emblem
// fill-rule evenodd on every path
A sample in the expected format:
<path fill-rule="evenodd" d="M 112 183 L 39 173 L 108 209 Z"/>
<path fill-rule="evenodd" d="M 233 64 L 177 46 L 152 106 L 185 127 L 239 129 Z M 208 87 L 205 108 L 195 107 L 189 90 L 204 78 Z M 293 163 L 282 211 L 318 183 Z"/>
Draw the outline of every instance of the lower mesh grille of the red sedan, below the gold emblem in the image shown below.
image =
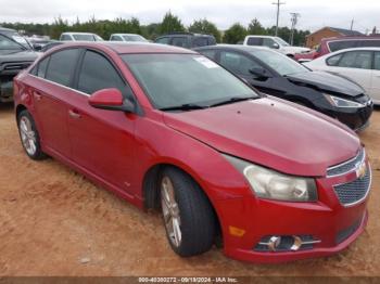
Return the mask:
<path fill-rule="evenodd" d="M 366 175 L 360 179 L 356 179 L 352 182 L 334 185 L 333 189 L 339 198 L 339 202 L 343 206 L 354 205 L 365 199 L 370 188 L 371 171 L 367 168 Z"/>

